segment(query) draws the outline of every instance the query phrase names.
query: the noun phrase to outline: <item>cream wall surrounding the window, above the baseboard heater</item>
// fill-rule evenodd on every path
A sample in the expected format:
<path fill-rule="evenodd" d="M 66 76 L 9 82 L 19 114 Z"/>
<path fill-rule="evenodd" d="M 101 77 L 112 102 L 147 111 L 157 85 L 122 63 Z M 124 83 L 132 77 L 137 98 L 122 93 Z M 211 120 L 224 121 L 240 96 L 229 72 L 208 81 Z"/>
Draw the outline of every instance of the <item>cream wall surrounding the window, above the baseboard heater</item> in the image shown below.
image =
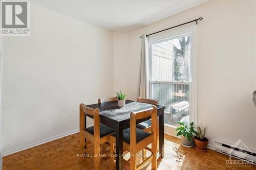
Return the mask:
<path fill-rule="evenodd" d="M 239 138 L 256 150 L 255 2 L 211 1 L 127 33 L 114 34 L 114 72 L 122 65 L 127 78 L 115 75 L 130 99 L 139 86 L 140 35 L 202 16 L 198 27 L 198 123 L 207 127 L 209 143 L 234 143 Z M 121 45 L 123 44 L 123 46 Z M 125 52 L 125 53 L 124 53 Z M 127 61 L 128 60 L 128 61 Z"/>

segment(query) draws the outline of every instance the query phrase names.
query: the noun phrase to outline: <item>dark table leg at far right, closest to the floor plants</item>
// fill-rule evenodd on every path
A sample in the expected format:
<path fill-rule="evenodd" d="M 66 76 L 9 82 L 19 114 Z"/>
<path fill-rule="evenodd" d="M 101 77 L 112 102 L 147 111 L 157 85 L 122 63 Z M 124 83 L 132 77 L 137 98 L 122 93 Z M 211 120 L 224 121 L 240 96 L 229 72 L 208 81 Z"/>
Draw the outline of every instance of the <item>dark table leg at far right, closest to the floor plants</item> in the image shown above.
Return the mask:
<path fill-rule="evenodd" d="M 164 157 L 164 110 L 159 115 L 159 154 Z"/>

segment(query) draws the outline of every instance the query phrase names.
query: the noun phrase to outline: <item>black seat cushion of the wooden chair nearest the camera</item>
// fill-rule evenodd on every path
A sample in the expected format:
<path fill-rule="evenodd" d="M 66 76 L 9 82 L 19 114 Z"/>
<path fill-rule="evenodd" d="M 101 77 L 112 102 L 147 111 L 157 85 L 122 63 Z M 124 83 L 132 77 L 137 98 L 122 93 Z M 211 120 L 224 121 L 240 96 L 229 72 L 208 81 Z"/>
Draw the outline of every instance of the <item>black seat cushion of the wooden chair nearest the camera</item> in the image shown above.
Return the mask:
<path fill-rule="evenodd" d="M 151 133 L 145 132 L 139 128 L 136 128 L 136 142 L 137 143 L 150 135 L 151 135 Z M 116 133 L 112 134 L 112 136 L 116 136 Z M 130 128 L 123 130 L 123 141 L 130 144 Z"/>

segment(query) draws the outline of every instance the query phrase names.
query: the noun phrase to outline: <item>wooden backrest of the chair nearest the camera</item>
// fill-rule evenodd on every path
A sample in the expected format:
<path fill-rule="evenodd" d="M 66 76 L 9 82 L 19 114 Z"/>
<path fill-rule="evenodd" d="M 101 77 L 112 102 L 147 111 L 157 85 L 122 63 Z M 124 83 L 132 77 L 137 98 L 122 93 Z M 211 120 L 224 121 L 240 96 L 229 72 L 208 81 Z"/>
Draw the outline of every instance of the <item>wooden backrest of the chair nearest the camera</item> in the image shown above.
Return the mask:
<path fill-rule="evenodd" d="M 157 108 L 156 106 L 152 106 L 152 108 L 142 110 L 139 112 L 131 112 L 130 113 L 130 147 L 131 150 L 136 150 L 136 124 L 137 120 L 144 119 L 151 116 L 152 121 L 152 130 L 151 135 L 154 136 L 154 139 L 156 140 L 157 137 Z"/>

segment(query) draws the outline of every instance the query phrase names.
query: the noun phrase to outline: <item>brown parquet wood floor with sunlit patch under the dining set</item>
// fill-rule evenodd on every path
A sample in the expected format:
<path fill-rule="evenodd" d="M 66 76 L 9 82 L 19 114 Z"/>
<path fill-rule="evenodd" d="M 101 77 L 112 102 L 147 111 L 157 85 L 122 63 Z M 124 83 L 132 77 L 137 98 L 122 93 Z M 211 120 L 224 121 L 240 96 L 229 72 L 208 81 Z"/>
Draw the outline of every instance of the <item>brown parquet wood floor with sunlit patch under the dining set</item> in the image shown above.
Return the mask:
<path fill-rule="evenodd" d="M 180 139 L 165 135 L 165 157 L 158 159 L 158 169 L 256 169 L 256 166 L 226 167 L 228 156 L 212 150 L 202 153 L 195 148 L 184 148 L 179 143 Z M 89 158 L 79 164 L 78 153 L 79 134 L 76 133 L 5 156 L 3 170 L 93 169 L 93 161 Z M 109 169 L 108 157 L 101 159 L 101 169 Z M 146 164 L 143 169 L 151 169 L 151 165 Z"/>

